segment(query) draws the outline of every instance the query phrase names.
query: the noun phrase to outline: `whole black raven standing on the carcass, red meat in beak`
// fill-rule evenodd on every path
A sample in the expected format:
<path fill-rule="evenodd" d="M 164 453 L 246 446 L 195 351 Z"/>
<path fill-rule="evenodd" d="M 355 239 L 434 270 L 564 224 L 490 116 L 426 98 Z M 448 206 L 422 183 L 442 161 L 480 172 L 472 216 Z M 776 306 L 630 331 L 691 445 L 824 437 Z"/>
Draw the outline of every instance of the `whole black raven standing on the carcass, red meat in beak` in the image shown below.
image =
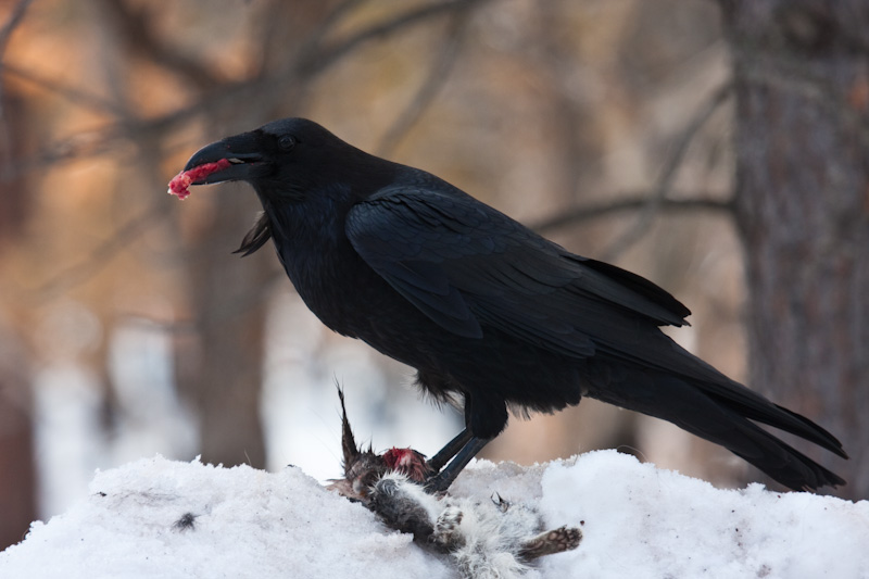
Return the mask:
<path fill-rule="evenodd" d="M 832 435 L 658 329 L 687 324 L 691 312 L 672 295 L 434 175 L 304 118 L 209 144 L 184 175 L 253 186 L 264 212 L 238 251 L 272 238 L 326 326 L 416 368 L 436 399 L 464 402 L 465 429 L 429 461 L 439 471 L 431 490 L 449 487 L 504 429 L 508 408 L 553 412 L 583 395 L 669 420 L 791 489 L 845 483 L 755 421 L 847 457 Z"/>

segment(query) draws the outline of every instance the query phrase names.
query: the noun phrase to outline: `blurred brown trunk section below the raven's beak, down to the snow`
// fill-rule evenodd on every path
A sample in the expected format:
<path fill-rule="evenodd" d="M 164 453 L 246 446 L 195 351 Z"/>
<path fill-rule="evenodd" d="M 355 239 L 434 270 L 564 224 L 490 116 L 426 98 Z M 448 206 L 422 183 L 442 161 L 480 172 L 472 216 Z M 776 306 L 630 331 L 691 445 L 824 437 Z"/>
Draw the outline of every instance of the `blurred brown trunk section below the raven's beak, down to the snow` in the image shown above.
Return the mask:
<path fill-rule="evenodd" d="M 265 255 L 241 260 L 230 254 L 255 214 L 253 196 L 241 190 L 209 193 L 219 199 L 211 207 L 207 230 L 196 240 L 189 272 L 197 363 L 179 361 L 178 385 L 196 404 L 202 461 L 264 468 L 260 393 L 265 300 L 260 289 L 270 269 Z"/>

